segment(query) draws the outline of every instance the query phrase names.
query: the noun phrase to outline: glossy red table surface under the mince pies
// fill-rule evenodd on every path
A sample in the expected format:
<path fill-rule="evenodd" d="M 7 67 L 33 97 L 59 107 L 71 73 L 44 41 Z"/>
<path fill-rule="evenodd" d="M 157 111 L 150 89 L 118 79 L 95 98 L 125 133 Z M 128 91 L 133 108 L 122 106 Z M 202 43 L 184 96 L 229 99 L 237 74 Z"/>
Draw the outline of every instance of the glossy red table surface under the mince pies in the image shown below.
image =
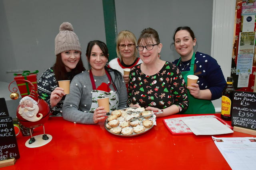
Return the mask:
<path fill-rule="evenodd" d="M 220 114 L 215 114 L 220 117 Z M 231 169 L 211 135 L 172 135 L 163 119 L 192 115 L 171 115 L 157 118 L 157 125 L 135 137 L 118 137 L 98 125 L 74 124 L 62 117 L 50 117 L 44 124 L 52 141 L 38 148 L 28 148 L 30 137 L 17 136 L 20 158 L 1 170 L 167 170 L 167 169 Z M 231 123 L 231 122 L 228 122 Z M 43 128 L 34 129 L 34 136 Z M 214 137 L 255 137 L 234 132 Z"/>

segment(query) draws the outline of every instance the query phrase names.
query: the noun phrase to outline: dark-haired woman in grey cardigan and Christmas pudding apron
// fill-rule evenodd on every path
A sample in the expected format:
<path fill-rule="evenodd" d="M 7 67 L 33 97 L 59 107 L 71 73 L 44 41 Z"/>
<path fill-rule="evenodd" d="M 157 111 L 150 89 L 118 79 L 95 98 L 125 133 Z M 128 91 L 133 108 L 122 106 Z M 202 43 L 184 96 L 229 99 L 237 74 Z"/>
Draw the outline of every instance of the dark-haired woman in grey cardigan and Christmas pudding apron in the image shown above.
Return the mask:
<path fill-rule="evenodd" d="M 77 74 L 70 83 L 70 94 L 63 104 L 63 118 L 84 124 L 96 124 L 106 118 L 98 98 L 109 98 L 110 113 L 127 107 L 127 90 L 122 74 L 108 68 L 108 49 L 102 41 L 90 41 L 86 50 L 90 70 Z"/>

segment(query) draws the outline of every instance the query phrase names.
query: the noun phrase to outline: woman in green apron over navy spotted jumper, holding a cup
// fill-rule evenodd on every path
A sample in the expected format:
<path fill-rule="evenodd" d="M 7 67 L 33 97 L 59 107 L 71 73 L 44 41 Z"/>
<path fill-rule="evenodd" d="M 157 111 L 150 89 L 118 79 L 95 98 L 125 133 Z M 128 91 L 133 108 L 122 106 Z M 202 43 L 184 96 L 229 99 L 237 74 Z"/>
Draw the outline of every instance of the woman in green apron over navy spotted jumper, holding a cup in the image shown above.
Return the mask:
<path fill-rule="evenodd" d="M 192 74 L 199 77 L 197 84 L 188 86 L 189 106 L 186 114 L 215 113 L 211 100 L 222 96 L 226 80 L 217 61 L 211 56 L 194 52 L 196 38 L 190 27 L 178 27 L 173 35 L 174 47 L 180 58 L 173 61 L 182 71 L 185 82 Z"/>

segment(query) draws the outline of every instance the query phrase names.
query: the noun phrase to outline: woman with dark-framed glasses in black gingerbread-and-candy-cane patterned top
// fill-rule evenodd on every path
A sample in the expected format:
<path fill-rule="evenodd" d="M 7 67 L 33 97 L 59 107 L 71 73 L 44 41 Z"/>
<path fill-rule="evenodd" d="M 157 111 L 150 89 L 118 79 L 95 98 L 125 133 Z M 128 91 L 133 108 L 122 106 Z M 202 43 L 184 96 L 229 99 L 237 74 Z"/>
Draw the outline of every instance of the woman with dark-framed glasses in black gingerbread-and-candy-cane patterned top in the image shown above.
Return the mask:
<path fill-rule="evenodd" d="M 157 31 L 142 30 L 136 48 L 143 63 L 131 68 L 127 104 L 146 107 L 146 110 L 163 109 L 156 117 L 186 111 L 185 81 L 176 65 L 160 59 L 162 43 Z"/>

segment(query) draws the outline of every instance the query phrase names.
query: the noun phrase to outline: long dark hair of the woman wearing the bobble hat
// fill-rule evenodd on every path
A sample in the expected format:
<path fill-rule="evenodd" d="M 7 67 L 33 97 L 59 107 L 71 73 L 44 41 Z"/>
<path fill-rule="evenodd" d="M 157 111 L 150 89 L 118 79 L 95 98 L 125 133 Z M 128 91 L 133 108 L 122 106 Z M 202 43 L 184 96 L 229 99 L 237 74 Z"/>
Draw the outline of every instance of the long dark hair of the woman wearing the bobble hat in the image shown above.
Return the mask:
<path fill-rule="evenodd" d="M 72 78 L 85 70 L 84 64 L 82 62 L 82 59 L 80 57 L 80 60 L 76 64 L 76 67 L 72 69 L 71 72 L 67 72 L 64 63 L 62 62 L 61 59 L 61 54 L 56 55 L 56 63 L 53 66 L 55 78 L 57 81 L 59 80 L 72 80 Z"/>

